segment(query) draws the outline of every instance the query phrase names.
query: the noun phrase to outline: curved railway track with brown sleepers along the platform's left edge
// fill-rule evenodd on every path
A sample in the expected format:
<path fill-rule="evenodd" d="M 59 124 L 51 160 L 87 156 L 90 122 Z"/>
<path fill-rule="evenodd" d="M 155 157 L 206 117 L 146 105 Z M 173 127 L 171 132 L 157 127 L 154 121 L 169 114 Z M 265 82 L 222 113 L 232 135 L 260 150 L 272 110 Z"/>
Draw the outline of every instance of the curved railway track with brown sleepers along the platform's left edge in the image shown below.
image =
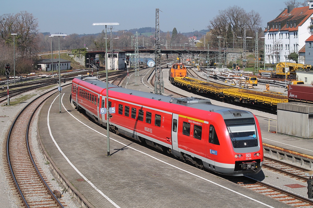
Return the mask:
<path fill-rule="evenodd" d="M 6 157 L 10 176 L 17 189 L 18 195 L 25 207 L 64 207 L 45 181 L 45 176 L 39 167 L 36 167 L 36 158 L 33 157 L 31 139 L 28 138 L 33 128 L 33 116 L 38 108 L 57 89 L 40 95 L 30 102 L 16 117 L 6 141 Z"/>

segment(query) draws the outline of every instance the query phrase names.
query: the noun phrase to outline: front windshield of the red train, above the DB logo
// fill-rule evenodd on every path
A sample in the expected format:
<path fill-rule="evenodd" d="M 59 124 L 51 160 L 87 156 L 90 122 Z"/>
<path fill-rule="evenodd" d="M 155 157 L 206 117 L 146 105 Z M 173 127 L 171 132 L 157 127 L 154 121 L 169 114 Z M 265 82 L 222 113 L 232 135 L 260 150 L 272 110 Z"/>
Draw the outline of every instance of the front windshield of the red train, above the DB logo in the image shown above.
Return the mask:
<path fill-rule="evenodd" d="M 225 119 L 225 124 L 234 148 L 258 146 L 254 118 Z"/>

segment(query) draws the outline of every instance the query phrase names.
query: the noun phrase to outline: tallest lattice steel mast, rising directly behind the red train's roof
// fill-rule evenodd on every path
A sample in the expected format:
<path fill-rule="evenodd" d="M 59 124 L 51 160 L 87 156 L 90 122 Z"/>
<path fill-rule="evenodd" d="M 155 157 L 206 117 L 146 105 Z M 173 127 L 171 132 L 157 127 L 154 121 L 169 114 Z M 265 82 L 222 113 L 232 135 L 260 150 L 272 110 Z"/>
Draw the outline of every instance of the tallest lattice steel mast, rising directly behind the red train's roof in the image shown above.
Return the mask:
<path fill-rule="evenodd" d="M 155 81 L 154 93 L 162 94 L 164 92 L 163 73 L 161 68 L 161 48 L 160 48 L 160 24 L 159 24 L 159 9 L 156 9 L 156 65 L 155 65 Z"/>

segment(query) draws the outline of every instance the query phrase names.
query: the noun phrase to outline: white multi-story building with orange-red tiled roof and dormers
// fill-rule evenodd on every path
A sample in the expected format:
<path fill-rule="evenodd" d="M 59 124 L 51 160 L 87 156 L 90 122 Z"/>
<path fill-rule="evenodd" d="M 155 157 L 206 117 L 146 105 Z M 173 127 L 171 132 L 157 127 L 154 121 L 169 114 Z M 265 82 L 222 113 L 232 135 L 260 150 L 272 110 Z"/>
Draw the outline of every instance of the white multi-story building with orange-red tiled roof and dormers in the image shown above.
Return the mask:
<path fill-rule="evenodd" d="M 313 2 L 308 7 L 289 5 L 264 28 L 265 63 L 294 62 L 290 53 L 299 53 L 313 34 Z M 303 57 L 303 56 L 301 56 Z M 304 59 L 299 60 L 304 64 Z"/>

